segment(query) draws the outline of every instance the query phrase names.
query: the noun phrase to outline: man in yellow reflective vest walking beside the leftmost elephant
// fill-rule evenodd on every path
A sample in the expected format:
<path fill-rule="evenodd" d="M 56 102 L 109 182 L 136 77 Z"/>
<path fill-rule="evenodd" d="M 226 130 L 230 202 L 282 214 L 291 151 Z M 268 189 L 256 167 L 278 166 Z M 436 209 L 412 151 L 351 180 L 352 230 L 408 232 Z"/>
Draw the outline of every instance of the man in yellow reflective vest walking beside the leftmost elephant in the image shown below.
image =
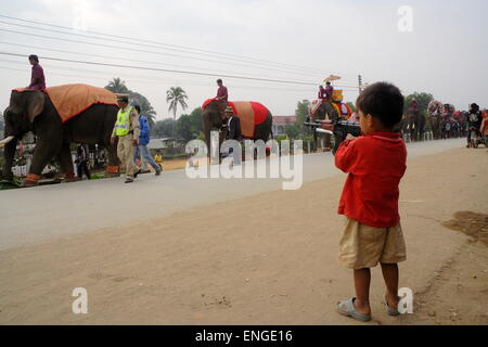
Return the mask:
<path fill-rule="evenodd" d="M 126 183 L 132 183 L 141 172 L 141 168 L 133 163 L 136 147 L 139 145 L 139 114 L 129 105 L 128 95 L 117 95 L 117 104 L 120 110 L 112 132 L 112 143 L 118 138 L 117 155 L 126 168 Z"/>

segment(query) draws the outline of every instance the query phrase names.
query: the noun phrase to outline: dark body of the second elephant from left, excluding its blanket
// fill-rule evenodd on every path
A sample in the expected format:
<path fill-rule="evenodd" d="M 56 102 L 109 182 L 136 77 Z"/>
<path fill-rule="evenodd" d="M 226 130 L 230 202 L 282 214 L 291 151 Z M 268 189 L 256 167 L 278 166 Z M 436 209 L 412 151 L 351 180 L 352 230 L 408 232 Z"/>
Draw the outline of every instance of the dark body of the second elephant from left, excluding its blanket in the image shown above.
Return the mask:
<path fill-rule="evenodd" d="M 239 105 L 258 105 L 260 110 L 266 112 L 266 115 L 264 117 L 264 121 L 259 124 L 254 124 L 254 136 L 249 136 L 249 133 L 245 133 L 244 127 L 243 127 L 243 138 L 247 140 L 262 140 L 265 143 L 268 142 L 270 137 L 272 137 L 272 125 L 273 125 L 273 117 L 271 115 L 271 112 L 267 110 L 265 106 L 258 104 L 258 103 L 251 103 L 251 102 L 234 102 L 229 103 L 226 101 L 218 101 L 218 100 L 207 100 L 202 107 L 202 125 L 203 125 L 203 131 L 205 134 L 205 141 L 208 149 L 208 156 L 210 157 L 210 133 L 211 131 L 220 131 L 220 144 L 226 140 L 227 137 L 227 130 L 223 124 L 223 113 L 226 108 L 229 105 L 234 105 L 234 107 L 237 107 Z M 251 108 L 249 108 L 251 110 Z M 241 123 L 243 123 L 243 117 L 248 117 L 248 112 L 237 112 L 237 117 L 241 118 Z"/>

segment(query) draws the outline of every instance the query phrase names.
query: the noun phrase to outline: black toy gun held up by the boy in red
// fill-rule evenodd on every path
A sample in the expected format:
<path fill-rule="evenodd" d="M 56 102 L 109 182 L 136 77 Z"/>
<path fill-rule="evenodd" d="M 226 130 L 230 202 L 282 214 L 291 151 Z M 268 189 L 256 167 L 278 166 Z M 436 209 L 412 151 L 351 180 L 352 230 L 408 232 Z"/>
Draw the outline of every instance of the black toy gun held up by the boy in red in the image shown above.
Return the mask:
<path fill-rule="evenodd" d="M 312 131 L 314 138 L 317 134 L 331 134 L 334 136 L 334 149 L 332 153 L 335 155 L 339 145 L 346 140 L 347 134 L 350 133 L 354 137 L 361 136 L 361 126 L 359 121 L 346 120 L 346 119 L 333 119 L 333 120 L 316 120 L 308 119 L 305 124 Z"/>

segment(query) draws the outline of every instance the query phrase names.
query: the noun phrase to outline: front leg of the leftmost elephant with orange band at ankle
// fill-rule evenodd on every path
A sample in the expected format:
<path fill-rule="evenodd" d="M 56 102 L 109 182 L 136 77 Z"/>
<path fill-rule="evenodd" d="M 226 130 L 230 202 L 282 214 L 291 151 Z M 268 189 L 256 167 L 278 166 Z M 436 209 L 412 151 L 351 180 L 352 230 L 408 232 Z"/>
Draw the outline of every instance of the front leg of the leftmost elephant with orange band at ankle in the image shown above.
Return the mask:
<path fill-rule="evenodd" d="M 42 170 L 55 157 L 61 150 L 61 136 L 59 139 L 54 137 L 39 137 L 34 152 L 33 164 L 30 165 L 29 175 L 24 181 L 25 187 L 37 185 Z"/>

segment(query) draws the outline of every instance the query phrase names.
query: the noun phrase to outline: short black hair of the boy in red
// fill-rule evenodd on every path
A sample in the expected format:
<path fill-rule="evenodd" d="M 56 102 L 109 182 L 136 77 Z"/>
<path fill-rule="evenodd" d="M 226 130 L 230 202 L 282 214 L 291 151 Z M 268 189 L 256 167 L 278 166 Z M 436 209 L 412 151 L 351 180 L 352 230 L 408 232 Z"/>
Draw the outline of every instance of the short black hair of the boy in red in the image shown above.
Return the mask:
<path fill-rule="evenodd" d="M 393 128 L 403 117 L 404 97 L 401 91 L 388 82 L 371 85 L 359 95 L 358 110 L 371 115 L 387 128 Z"/>

